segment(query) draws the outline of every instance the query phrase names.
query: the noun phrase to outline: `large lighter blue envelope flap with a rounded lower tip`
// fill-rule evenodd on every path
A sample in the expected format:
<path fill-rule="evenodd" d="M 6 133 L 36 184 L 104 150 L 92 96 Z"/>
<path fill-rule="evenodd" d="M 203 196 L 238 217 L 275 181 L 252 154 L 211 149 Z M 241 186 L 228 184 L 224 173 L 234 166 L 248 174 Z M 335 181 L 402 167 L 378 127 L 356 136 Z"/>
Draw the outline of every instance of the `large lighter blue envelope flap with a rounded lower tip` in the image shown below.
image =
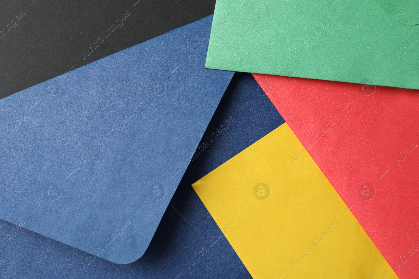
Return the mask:
<path fill-rule="evenodd" d="M 233 72 L 212 16 L 0 100 L 0 218 L 118 264 L 145 252 Z"/>

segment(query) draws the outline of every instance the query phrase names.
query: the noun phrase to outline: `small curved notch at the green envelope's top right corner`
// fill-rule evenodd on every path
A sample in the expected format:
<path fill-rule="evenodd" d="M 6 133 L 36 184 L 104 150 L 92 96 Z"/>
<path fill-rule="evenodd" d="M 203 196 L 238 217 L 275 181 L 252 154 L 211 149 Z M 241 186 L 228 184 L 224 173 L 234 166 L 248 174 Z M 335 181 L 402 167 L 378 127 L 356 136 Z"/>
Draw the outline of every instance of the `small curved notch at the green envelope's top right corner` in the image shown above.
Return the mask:
<path fill-rule="evenodd" d="M 419 24 L 419 2 L 416 0 L 374 0 L 398 23 Z"/>

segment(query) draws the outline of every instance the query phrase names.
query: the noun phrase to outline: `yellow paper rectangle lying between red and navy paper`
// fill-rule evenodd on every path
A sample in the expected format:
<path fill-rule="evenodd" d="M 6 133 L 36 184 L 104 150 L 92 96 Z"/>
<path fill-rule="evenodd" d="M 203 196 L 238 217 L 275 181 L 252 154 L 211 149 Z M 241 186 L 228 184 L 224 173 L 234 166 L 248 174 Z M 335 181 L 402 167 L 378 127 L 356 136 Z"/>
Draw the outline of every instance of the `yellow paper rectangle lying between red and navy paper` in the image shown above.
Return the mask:
<path fill-rule="evenodd" d="M 286 123 L 193 187 L 255 279 L 398 278 Z"/>

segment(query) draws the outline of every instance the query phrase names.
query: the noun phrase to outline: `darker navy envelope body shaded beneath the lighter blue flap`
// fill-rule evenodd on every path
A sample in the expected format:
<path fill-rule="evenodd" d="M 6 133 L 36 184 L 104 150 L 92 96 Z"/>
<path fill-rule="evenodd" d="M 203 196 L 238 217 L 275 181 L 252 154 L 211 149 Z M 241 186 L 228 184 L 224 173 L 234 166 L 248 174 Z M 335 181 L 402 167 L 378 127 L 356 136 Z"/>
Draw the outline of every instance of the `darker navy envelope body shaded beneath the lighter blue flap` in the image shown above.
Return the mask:
<path fill-rule="evenodd" d="M 284 122 L 252 75 L 236 73 L 139 260 L 113 264 L 0 220 L 0 278 L 251 278 L 191 184 Z"/>

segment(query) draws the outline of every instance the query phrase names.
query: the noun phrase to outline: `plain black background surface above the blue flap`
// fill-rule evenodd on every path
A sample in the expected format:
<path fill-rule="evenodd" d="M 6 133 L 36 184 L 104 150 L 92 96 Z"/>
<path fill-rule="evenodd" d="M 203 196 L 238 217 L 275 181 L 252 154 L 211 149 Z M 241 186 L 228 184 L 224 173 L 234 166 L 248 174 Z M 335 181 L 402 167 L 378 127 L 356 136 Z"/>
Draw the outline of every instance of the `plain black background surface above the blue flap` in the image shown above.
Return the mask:
<path fill-rule="evenodd" d="M 0 3 L 0 98 L 214 13 L 215 0 L 12 0 Z M 124 24 L 83 59 L 125 11 Z M 14 23 L 16 25 L 16 23 Z"/>

